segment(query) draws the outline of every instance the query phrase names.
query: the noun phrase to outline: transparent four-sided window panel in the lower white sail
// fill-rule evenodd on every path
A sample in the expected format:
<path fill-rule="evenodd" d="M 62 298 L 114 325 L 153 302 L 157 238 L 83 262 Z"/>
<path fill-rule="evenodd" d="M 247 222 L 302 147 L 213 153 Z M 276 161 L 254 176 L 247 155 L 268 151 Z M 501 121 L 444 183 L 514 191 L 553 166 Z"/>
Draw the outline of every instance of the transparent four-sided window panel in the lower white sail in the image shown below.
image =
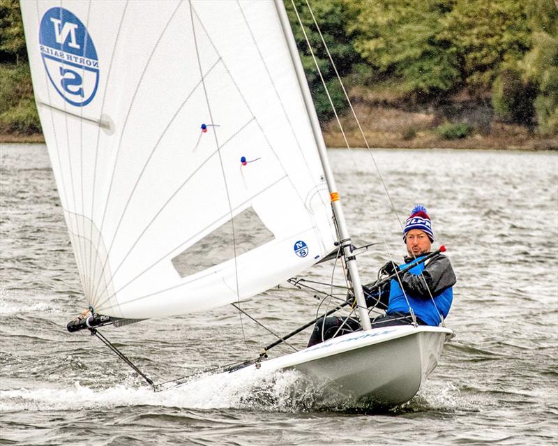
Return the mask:
<path fill-rule="evenodd" d="M 181 277 L 190 276 L 234 258 L 235 251 L 238 257 L 274 238 L 254 209 L 249 207 L 176 255 L 172 259 L 172 265 Z"/>

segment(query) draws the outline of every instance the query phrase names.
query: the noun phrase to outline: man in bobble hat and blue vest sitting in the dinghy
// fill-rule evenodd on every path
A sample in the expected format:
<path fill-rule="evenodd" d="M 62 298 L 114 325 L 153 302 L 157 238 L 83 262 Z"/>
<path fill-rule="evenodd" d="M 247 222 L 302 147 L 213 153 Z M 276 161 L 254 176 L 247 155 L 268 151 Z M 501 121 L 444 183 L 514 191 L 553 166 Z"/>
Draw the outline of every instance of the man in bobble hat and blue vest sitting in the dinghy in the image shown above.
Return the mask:
<path fill-rule="evenodd" d="M 386 309 L 385 315 L 370 320 L 372 328 L 412 324 L 413 315 L 418 325 L 437 326 L 442 318 L 446 318 L 451 307 L 452 287 L 456 279 L 446 256 L 434 255 L 426 262 L 399 273 L 400 269 L 430 253 L 434 232 L 425 207 L 417 205 L 412 210 L 403 228 L 403 241 L 409 254 L 405 257 L 405 264 L 397 266 L 390 261 L 380 269 L 380 276 L 395 274 L 395 277 L 382 287 L 377 287 L 375 283 L 363 286 L 366 306 Z M 357 329 L 360 325 L 354 318 L 321 318 L 314 326 L 308 347 Z"/>

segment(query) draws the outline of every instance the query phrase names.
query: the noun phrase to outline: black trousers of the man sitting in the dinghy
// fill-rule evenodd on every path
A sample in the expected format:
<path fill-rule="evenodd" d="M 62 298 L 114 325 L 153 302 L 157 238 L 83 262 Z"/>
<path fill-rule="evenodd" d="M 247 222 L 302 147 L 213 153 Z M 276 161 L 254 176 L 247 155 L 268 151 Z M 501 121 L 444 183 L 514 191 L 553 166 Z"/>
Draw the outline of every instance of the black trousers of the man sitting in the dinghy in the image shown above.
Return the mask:
<path fill-rule="evenodd" d="M 416 318 L 418 325 L 427 325 L 422 320 Z M 411 315 L 404 313 L 386 314 L 370 319 L 372 328 L 389 327 L 391 325 L 412 325 Z M 361 329 L 358 320 L 354 318 L 340 318 L 339 316 L 330 316 L 329 318 L 319 318 L 314 325 L 314 330 L 310 335 L 308 347 L 331 339 L 333 336 L 341 336 L 342 334 L 356 332 Z"/>

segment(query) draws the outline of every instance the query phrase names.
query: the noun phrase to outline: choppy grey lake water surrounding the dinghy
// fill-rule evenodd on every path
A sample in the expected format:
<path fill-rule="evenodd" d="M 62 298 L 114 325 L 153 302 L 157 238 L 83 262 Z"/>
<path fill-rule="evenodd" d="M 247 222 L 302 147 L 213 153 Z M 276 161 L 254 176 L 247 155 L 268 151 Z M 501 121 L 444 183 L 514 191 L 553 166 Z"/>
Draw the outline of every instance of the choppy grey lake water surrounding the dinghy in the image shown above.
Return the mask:
<path fill-rule="evenodd" d="M 378 412 L 332 408 L 292 372 L 151 392 L 97 339 L 66 332 L 85 302 L 45 147 L 0 149 L 0 444 L 558 444 L 556 153 L 374 151 L 400 219 L 426 205 L 458 276 L 441 364 L 412 401 Z M 329 154 L 356 244 L 379 242 L 359 259 L 372 280 L 404 253 L 400 225 L 370 155 Z M 326 280 L 331 265 L 312 274 Z M 311 296 L 265 294 L 243 308 L 281 333 L 315 313 Z M 161 381 L 274 340 L 242 324 L 247 343 L 228 308 L 105 335 Z"/>

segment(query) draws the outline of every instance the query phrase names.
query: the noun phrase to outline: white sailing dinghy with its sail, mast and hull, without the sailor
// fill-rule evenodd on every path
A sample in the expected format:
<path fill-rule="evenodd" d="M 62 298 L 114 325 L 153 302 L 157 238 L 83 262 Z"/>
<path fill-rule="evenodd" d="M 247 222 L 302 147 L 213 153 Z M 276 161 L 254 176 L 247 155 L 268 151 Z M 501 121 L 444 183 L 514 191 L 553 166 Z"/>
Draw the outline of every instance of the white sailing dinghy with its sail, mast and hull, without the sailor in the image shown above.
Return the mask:
<path fill-rule="evenodd" d="M 370 327 L 282 1 L 21 7 L 88 307 L 68 329 L 238 303 L 340 253 L 362 330 L 221 373 L 294 369 L 351 401 L 412 399 L 453 332 Z"/>

